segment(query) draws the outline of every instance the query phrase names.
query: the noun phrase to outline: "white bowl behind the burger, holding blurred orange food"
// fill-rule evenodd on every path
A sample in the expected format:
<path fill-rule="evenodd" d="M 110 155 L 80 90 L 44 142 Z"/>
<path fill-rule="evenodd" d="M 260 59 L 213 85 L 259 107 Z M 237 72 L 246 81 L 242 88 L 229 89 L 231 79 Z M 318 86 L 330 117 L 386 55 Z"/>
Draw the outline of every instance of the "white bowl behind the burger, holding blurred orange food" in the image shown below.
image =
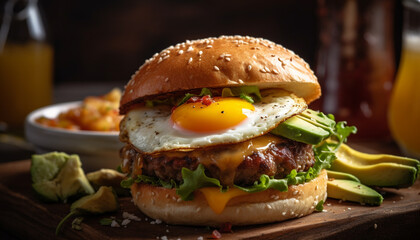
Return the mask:
<path fill-rule="evenodd" d="M 46 127 L 35 120 L 39 117 L 54 118 L 59 113 L 81 105 L 81 102 L 60 103 L 37 109 L 25 121 L 26 139 L 38 153 L 52 151 L 78 154 L 86 171 L 100 168 L 116 169 L 120 164 L 119 132 L 74 131 Z"/>

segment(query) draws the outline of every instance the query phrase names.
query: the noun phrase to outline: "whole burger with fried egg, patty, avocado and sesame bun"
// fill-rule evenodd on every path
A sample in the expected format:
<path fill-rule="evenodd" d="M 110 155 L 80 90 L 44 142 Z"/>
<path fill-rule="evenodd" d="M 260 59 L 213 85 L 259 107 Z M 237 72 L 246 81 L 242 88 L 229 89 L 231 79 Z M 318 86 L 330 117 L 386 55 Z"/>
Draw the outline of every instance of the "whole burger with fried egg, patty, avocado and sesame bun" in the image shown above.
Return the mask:
<path fill-rule="evenodd" d="M 349 132 L 332 116 L 308 112 L 320 95 L 308 64 L 265 39 L 168 47 L 146 60 L 122 95 L 122 185 L 143 213 L 169 224 L 308 215 L 327 197 L 323 168 Z M 305 137 L 319 126 L 321 138 Z"/>

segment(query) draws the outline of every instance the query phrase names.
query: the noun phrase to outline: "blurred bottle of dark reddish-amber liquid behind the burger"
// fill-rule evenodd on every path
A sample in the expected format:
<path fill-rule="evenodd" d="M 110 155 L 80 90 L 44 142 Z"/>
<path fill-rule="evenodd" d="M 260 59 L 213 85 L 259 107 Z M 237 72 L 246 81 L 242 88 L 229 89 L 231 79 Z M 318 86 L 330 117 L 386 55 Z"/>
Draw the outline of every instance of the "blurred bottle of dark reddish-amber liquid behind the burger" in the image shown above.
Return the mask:
<path fill-rule="evenodd" d="M 387 138 L 394 80 L 391 0 L 319 1 L 317 76 L 323 96 L 315 108 L 357 126 L 352 138 Z"/>

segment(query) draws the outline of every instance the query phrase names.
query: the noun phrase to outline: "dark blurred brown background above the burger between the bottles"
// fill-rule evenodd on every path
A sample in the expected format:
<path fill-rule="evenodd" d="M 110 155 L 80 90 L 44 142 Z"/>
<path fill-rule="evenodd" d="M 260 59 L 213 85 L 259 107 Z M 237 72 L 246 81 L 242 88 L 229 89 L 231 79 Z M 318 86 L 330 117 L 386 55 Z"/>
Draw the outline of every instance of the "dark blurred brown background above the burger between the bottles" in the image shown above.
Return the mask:
<path fill-rule="evenodd" d="M 40 4 L 54 45 L 56 85 L 121 85 L 163 48 L 186 39 L 233 34 L 280 43 L 315 69 L 317 0 L 40 0 Z M 400 1 L 393 21 L 398 59 Z"/>

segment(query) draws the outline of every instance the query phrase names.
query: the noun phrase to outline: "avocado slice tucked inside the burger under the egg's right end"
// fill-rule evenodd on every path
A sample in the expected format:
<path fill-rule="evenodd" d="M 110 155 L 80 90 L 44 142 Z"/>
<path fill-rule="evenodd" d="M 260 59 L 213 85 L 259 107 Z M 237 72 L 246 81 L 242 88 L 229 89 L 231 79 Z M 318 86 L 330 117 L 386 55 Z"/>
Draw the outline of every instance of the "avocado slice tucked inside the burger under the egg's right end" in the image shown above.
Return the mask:
<path fill-rule="evenodd" d="M 274 135 L 279 135 L 291 140 L 316 145 L 327 138 L 330 133 L 298 116 L 291 117 L 271 130 Z"/>

